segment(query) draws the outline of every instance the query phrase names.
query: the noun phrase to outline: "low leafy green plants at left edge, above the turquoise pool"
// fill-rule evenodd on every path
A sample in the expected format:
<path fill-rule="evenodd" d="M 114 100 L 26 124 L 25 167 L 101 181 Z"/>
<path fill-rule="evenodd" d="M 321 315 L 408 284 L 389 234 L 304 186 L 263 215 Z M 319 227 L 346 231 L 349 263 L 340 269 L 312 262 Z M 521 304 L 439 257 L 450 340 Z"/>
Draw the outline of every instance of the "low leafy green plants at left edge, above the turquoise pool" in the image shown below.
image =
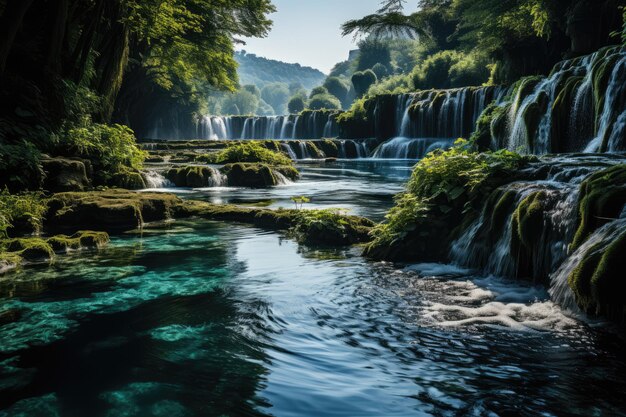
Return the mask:
<path fill-rule="evenodd" d="M 10 194 L 5 188 L 0 193 L 0 238 L 7 237 L 16 220 L 25 220 L 34 231 L 41 230 L 46 210 L 47 202 L 41 193 Z"/>

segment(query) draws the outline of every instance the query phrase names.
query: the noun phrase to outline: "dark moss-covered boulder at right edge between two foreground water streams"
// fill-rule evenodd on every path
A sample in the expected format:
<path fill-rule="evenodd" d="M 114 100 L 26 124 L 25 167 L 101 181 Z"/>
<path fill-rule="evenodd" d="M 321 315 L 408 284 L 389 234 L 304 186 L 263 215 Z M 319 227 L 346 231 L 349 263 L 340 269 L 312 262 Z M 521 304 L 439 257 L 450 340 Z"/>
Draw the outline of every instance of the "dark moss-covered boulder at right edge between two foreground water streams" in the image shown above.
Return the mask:
<path fill-rule="evenodd" d="M 619 216 L 626 204 L 626 164 L 596 172 L 580 187 L 578 228 L 572 249 L 582 245 L 599 227 Z"/>

